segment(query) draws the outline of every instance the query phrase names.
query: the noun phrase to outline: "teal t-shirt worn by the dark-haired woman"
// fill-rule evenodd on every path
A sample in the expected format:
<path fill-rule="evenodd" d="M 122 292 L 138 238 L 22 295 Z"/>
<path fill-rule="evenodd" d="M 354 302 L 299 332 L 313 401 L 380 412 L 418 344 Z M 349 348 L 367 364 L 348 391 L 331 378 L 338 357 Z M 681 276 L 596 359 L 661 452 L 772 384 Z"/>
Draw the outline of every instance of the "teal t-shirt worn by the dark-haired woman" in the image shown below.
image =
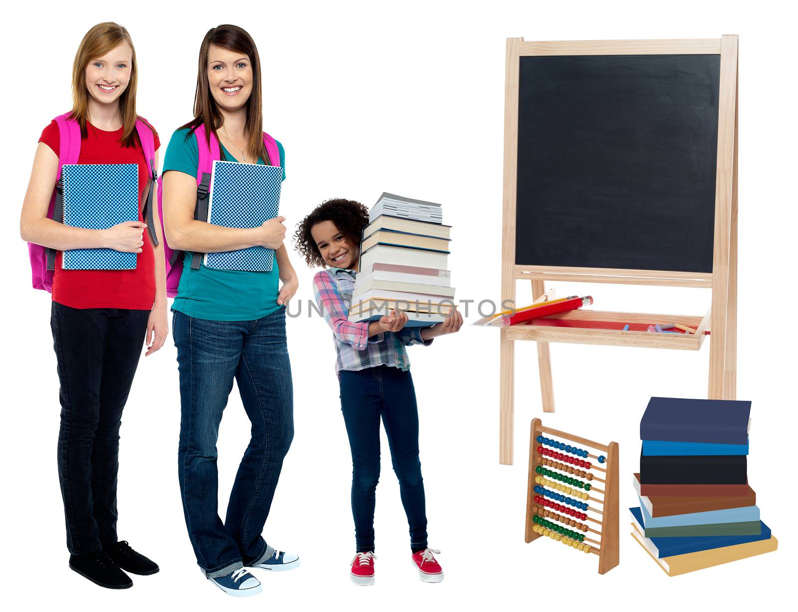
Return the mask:
<path fill-rule="evenodd" d="M 196 178 L 199 166 L 199 151 L 196 137 L 188 136 L 188 128 L 177 130 L 169 140 L 164 155 L 164 170 L 184 172 Z M 221 147 L 221 146 L 220 146 Z M 286 179 L 286 155 L 282 144 L 280 151 L 282 180 Z M 221 147 L 224 159 L 235 161 L 230 153 Z M 263 159 L 258 159 L 263 163 Z M 196 319 L 213 321 L 252 321 L 270 315 L 279 308 L 279 269 L 275 257 L 271 272 L 241 272 L 238 270 L 218 270 L 207 268 L 200 263 L 199 269 L 191 266 L 192 253 L 185 253 L 183 273 L 172 310 Z"/>

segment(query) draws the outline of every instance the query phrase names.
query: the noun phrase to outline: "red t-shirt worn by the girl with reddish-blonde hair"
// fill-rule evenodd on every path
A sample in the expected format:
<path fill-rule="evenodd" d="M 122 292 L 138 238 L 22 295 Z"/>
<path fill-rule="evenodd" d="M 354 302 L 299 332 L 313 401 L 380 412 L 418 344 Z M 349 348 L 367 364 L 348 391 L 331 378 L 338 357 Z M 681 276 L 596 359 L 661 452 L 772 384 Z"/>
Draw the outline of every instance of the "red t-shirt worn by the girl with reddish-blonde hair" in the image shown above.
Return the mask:
<path fill-rule="evenodd" d="M 122 128 L 104 131 L 86 122 L 86 131 L 86 138 L 81 139 L 81 155 L 77 163 L 139 165 L 139 221 L 144 221 L 142 206 L 149 171 L 138 139 L 135 147 L 124 147 L 120 143 Z M 53 120 L 41 132 L 39 142 L 45 143 L 58 155 L 60 140 L 58 124 Z M 160 140 L 156 135 L 156 150 L 158 147 Z M 58 252 L 53 273 L 53 300 L 72 308 L 152 308 L 155 301 L 155 263 L 148 230 L 144 230 L 144 246 L 136 256 L 136 269 L 132 270 L 64 270 L 61 269 L 61 252 Z"/>

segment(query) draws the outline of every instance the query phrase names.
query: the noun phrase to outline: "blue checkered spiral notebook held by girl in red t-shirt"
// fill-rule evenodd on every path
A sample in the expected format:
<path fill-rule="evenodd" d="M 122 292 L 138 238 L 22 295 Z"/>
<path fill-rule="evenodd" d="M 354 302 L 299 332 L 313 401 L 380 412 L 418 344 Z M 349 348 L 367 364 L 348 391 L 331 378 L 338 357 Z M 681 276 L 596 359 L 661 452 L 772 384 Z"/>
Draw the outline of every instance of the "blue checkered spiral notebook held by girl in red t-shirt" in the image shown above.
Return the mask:
<path fill-rule="evenodd" d="M 139 220 L 139 166 L 136 163 L 80 163 L 61 167 L 64 225 L 107 230 Z M 132 270 L 136 253 L 114 249 L 61 252 L 65 270 Z"/>

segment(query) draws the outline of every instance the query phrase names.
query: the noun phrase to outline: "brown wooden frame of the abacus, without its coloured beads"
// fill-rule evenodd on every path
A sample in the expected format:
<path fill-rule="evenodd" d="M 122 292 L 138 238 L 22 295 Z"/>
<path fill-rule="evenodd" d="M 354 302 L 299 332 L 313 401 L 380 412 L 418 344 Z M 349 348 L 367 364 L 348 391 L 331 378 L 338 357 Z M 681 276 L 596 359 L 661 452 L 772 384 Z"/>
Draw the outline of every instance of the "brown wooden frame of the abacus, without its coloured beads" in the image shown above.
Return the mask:
<path fill-rule="evenodd" d="M 592 479 L 602 483 L 604 488 L 591 487 L 591 492 L 599 492 L 602 498 L 599 499 L 590 494 L 587 497 L 588 500 L 592 500 L 602 506 L 602 509 L 599 510 L 599 508 L 595 508 L 595 505 L 588 504 L 587 512 L 599 515 L 600 518 L 595 519 L 588 515 L 586 519 L 591 523 L 600 525 L 601 531 L 588 526 L 587 532 L 596 534 L 598 539 L 595 539 L 595 537 L 588 538 L 587 536 L 584 538 L 584 542 L 589 543 L 591 546 L 590 552 L 599 555 L 599 574 L 606 574 L 606 572 L 618 565 L 618 533 L 620 532 L 620 525 L 618 524 L 618 442 L 610 442 L 607 445 L 603 445 L 584 437 L 567 434 L 564 431 L 551 429 L 551 427 L 544 427 L 539 418 L 532 419 L 529 434 L 529 480 L 527 482 L 527 516 L 525 521 L 525 539 L 527 543 L 541 536 L 540 533 L 536 533 L 534 530 L 535 521 L 533 517 L 539 516 L 539 509 L 541 508 L 543 508 L 542 512 L 546 512 L 543 505 L 535 502 L 535 478 L 539 476 L 535 472 L 535 468 L 539 465 L 536 457 L 543 457 L 537 452 L 537 448 L 540 446 L 537 437 L 543 434 L 562 437 L 568 441 L 590 446 L 591 449 L 606 453 L 606 461 L 601 466 L 591 462 L 590 467 L 590 470 L 595 469 L 604 473 L 604 477 L 594 476 Z M 592 453 L 588 454 L 588 457 L 593 457 L 596 460 L 599 458 L 598 455 Z M 564 472 L 564 470 L 560 471 Z"/>

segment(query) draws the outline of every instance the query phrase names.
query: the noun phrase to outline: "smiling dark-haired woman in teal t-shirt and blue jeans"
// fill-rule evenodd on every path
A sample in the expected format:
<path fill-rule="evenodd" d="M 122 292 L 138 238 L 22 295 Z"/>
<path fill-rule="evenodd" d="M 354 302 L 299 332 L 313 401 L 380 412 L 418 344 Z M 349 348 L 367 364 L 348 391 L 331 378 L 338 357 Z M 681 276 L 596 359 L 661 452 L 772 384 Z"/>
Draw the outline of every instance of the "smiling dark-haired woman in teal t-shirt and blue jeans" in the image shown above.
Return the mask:
<path fill-rule="evenodd" d="M 187 253 L 172 305 L 180 365 L 180 492 L 199 567 L 217 587 L 237 596 L 261 590 L 248 568 L 275 571 L 299 564 L 296 555 L 275 550 L 262 536 L 294 436 L 285 304 L 298 282 L 282 244 L 284 218 L 251 230 L 194 219 L 199 167 L 195 131 L 203 126 L 213 134 L 227 161 L 276 165 L 263 144 L 260 84 L 258 50 L 250 35 L 237 26 L 211 29 L 199 49 L 195 119 L 172 135 L 164 159 L 164 229 L 169 245 Z M 282 145 L 277 145 L 284 168 Z M 271 272 L 203 264 L 192 269 L 194 251 L 251 246 L 275 249 Z M 234 379 L 252 437 L 222 521 L 217 512 L 216 439 Z"/>

